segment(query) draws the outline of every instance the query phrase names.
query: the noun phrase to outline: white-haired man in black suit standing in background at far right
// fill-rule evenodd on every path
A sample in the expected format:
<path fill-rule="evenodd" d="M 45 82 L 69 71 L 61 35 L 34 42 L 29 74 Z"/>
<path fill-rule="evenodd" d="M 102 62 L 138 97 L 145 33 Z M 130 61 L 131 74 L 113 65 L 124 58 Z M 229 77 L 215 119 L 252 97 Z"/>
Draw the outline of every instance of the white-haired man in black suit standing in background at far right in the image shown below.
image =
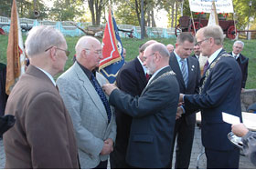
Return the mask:
<path fill-rule="evenodd" d="M 242 41 L 236 41 L 233 45 L 233 51 L 229 54 L 232 55 L 240 65 L 241 70 L 241 92 L 244 91 L 247 75 L 248 75 L 248 62 L 249 58 L 245 57 L 244 55 L 241 55 L 240 52 L 242 51 L 244 46 L 244 43 Z"/>

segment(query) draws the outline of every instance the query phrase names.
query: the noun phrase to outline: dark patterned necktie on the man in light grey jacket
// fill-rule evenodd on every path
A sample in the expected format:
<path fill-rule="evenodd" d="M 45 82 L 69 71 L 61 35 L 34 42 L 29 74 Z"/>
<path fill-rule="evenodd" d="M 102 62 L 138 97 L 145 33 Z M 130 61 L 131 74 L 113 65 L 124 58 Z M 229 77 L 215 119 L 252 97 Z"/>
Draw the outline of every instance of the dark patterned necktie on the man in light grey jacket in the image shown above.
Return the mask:
<path fill-rule="evenodd" d="M 92 82 L 92 85 L 94 86 L 97 94 L 100 96 L 102 104 L 105 106 L 105 109 L 106 109 L 107 115 L 108 115 L 108 123 L 110 123 L 111 119 L 112 119 L 111 106 L 107 100 L 106 95 L 104 94 L 104 92 L 101 88 L 101 85 L 99 85 L 99 83 L 97 82 L 97 80 L 93 74 L 91 75 L 91 82 Z"/>

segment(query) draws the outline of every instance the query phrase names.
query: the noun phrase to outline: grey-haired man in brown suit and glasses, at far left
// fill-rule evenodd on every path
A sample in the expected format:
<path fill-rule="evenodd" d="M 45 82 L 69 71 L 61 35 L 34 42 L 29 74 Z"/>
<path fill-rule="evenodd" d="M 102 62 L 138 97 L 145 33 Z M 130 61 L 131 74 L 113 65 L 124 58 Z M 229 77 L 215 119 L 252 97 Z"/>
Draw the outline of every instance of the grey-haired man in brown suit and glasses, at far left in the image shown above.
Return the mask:
<path fill-rule="evenodd" d="M 64 36 L 51 26 L 29 32 L 30 65 L 5 108 L 5 114 L 16 116 L 4 135 L 5 168 L 79 168 L 71 118 L 53 79 L 64 70 L 67 48 Z"/>

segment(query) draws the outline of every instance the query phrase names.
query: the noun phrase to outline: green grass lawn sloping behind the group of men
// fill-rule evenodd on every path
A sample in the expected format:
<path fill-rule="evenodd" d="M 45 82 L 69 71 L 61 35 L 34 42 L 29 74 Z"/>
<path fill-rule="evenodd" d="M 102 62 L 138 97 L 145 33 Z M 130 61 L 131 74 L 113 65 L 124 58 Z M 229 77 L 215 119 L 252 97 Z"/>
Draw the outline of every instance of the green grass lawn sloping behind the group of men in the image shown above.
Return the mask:
<path fill-rule="evenodd" d="M 23 37 L 24 40 L 26 36 Z M 67 70 L 72 64 L 72 57 L 75 54 L 75 45 L 80 37 L 70 37 L 66 36 L 66 40 L 69 46 L 69 51 L 71 52 L 69 55 L 69 60 L 65 65 L 65 70 Z M 126 49 L 126 61 L 132 60 L 135 56 L 137 56 L 139 45 L 148 41 L 149 39 L 131 39 L 131 38 L 123 38 L 122 43 Z M 161 42 L 165 45 L 167 44 L 175 44 L 176 38 L 155 38 L 156 41 Z M 249 70 L 248 70 L 248 79 L 246 83 L 246 89 L 256 88 L 256 40 L 242 40 L 244 42 L 244 48 L 242 54 L 246 57 L 249 57 Z M 6 48 L 8 44 L 8 36 L 0 35 L 0 62 L 6 64 Z M 225 39 L 224 48 L 227 52 L 232 51 L 233 41 L 229 39 Z M 57 75 L 59 76 L 59 75 Z"/>

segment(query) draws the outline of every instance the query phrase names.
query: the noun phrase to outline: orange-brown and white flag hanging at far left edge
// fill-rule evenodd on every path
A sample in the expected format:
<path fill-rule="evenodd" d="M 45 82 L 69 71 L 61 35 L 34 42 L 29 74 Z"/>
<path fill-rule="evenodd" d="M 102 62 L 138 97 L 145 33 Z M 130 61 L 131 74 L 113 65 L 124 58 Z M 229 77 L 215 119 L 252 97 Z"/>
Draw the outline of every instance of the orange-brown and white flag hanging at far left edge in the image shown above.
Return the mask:
<path fill-rule="evenodd" d="M 7 95 L 10 95 L 11 90 L 20 75 L 25 73 L 25 52 L 16 9 L 16 0 L 13 0 L 6 57 L 7 70 L 5 92 Z"/>

